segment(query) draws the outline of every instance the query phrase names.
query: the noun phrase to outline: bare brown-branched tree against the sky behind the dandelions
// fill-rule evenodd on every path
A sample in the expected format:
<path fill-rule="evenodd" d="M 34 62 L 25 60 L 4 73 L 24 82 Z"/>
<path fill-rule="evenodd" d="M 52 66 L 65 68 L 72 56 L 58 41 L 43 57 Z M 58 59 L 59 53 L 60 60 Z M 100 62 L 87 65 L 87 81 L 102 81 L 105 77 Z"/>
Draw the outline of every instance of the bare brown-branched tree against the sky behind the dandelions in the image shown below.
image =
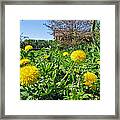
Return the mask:
<path fill-rule="evenodd" d="M 87 34 L 91 36 L 93 23 L 93 20 L 50 20 L 45 25 L 52 30 L 54 39 L 60 43 L 71 44 L 81 41 Z"/>

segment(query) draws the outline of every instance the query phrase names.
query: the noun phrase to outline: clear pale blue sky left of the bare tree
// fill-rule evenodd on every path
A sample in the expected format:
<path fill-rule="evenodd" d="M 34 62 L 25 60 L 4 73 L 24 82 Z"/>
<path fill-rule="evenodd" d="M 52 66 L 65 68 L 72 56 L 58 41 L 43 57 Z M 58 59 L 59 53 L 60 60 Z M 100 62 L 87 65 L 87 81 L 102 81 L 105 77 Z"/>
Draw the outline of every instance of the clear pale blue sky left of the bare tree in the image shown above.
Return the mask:
<path fill-rule="evenodd" d="M 51 31 L 43 25 L 47 20 L 20 20 L 20 34 L 28 36 L 30 39 L 50 40 L 53 36 Z"/>

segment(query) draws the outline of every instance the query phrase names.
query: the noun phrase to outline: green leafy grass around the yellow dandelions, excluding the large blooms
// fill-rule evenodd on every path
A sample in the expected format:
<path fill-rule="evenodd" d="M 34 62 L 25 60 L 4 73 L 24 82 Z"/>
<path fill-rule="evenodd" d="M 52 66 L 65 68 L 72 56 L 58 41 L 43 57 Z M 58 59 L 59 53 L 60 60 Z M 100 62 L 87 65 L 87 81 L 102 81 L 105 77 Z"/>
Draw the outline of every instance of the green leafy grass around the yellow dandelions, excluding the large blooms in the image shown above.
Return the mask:
<path fill-rule="evenodd" d="M 79 63 L 71 60 L 70 54 L 83 50 L 86 59 Z M 68 52 L 68 56 L 63 56 Z M 21 49 L 20 57 L 28 58 L 36 66 L 39 77 L 36 83 L 20 85 L 21 100 L 99 100 L 100 99 L 100 43 L 82 43 L 72 47 L 61 47 L 54 40 L 49 47 L 26 52 Z M 97 76 L 91 86 L 84 84 L 87 71 Z"/>

